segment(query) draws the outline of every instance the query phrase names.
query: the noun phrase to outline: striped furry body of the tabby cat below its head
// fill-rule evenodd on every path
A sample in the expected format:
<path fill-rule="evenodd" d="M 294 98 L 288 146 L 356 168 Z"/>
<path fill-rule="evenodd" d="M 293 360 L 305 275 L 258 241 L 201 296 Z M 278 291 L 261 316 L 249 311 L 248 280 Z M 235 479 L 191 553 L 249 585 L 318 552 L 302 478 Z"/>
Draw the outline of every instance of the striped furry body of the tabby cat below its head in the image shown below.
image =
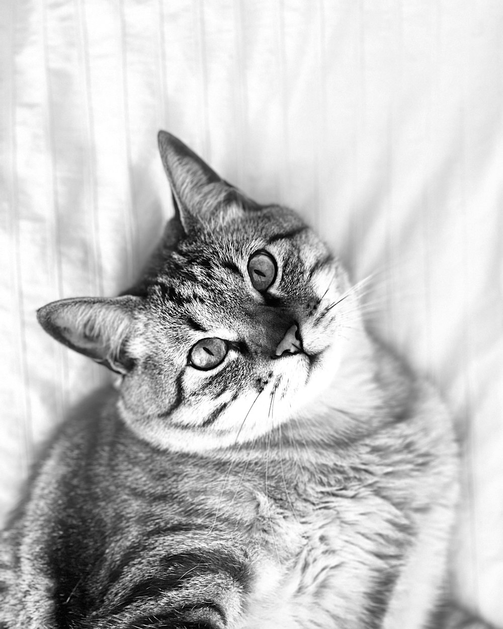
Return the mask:
<path fill-rule="evenodd" d="M 151 626 L 193 607 L 194 622 L 264 629 L 429 620 L 455 489 L 431 400 L 355 443 L 306 443 L 299 423 L 254 447 L 167 456 L 110 397 L 102 416 L 67 425 L 41 467 L 21 520 L 18 626 Z"/>

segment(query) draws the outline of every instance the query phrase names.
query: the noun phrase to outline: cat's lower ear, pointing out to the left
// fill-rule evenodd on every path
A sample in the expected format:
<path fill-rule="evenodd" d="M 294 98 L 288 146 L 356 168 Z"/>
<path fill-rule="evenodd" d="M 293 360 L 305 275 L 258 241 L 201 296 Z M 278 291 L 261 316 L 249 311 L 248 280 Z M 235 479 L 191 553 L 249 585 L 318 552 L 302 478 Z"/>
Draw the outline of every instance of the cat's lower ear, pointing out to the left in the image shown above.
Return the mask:
<path fill-rule="evenodd" d="M 38 309 L 36 318 L 60 343 L 126 374 L 135 364 L 128 340 L 140 301 L 133 296 L 61 299 Z"/>

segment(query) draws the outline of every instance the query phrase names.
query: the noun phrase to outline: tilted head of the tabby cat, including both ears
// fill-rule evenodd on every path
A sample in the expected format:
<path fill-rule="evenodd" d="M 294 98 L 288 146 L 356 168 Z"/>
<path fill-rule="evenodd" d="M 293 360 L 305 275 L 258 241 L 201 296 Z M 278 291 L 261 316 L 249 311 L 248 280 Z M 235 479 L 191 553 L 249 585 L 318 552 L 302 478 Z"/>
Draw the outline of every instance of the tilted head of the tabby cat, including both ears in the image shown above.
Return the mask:
<path fill-rule="evenodd" d="M 357 297 L 296 213 L 246 198 L 169 133 L 159 147 L 175 216 L 141 281 L 38 320 L 121 374 L 119 411 L 140 437 L 182 450 L 252 440 L 323 396 L 360 325 Z"/>

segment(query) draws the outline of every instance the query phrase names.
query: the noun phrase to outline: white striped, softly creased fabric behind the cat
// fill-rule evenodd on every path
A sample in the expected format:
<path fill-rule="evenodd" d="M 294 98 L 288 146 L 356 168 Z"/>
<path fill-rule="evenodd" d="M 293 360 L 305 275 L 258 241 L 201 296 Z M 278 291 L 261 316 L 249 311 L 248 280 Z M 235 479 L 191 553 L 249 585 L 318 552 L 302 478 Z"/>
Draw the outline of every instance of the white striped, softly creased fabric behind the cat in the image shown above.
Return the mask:
<path fill-rule="evenodd" d="M 459 597 L 503 625 L 503 3 L 0 2 L 0 502 L 106 370 L 35 309 L 113 295 L 169 216 L 157 130 L 298 208 L 465 433 Z"/>

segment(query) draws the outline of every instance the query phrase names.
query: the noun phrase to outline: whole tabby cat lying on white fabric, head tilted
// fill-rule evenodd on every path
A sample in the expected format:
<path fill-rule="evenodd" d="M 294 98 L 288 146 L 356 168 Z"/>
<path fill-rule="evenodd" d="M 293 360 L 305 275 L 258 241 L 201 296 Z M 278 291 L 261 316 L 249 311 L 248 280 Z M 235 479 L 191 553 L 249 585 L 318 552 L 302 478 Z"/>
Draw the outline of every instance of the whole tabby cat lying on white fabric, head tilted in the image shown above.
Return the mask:
<path fill-rule="evenodd" d="M 175 216 L 143 277 L 38 311 L 118 385 L 62 426 L 4 532 L 0 626 L 433 626 L 448 411 L 294 211 L 158 143 Z"/>

